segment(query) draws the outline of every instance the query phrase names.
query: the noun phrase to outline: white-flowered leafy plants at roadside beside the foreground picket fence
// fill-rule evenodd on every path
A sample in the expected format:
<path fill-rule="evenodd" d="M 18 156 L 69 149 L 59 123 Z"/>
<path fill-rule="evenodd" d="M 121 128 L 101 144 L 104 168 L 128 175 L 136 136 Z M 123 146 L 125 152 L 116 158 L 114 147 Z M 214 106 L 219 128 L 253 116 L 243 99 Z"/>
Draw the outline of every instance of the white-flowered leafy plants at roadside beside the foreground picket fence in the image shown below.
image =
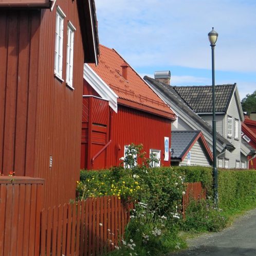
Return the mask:
<path fill-rule="evenodd" d="M 185 242 L 177 235 L 177 220 L 175 213 L 171 218 L 156 214 L 145 203 L 136 204 L 131 214 L 131 221 L 126 227 L 125 239 L 120 247 L 108 255 L 163 255 L 185 247 Z"/>

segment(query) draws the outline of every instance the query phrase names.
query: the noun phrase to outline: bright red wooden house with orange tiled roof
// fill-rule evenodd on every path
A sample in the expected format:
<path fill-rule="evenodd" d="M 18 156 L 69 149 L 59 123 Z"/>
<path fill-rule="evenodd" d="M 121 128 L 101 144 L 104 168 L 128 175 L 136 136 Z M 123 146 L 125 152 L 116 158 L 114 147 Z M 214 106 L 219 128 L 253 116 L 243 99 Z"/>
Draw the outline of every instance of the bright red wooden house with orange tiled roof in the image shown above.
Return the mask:
<path fill-rule="evenodd" d="M 175 114 L 116 50 L 100 52 L 98 66 L 84 66 L 81 169 L 118 165 L 131 143 L 170 166 Z"/>

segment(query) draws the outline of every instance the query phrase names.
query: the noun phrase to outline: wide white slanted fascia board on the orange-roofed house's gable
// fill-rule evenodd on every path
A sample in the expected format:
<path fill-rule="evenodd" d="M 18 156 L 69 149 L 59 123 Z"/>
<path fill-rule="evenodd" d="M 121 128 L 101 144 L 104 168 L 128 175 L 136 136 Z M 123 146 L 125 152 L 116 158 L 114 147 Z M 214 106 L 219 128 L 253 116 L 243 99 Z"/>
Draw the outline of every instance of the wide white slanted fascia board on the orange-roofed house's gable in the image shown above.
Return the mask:
<path fill-rule="evenodd" d="M 84 64 L 84 79 L 96 90 L 100 97 L 108 100 L 109 106 L 117 113 L 118 96 L 88 64 Z"/>

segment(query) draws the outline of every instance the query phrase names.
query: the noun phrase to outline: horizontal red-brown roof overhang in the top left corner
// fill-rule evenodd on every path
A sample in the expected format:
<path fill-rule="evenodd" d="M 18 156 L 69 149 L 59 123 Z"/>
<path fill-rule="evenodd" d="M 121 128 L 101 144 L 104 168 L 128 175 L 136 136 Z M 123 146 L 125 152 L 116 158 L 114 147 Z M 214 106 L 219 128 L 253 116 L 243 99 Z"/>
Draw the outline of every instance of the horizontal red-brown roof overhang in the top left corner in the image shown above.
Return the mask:
<path fill-rule="evenodd" d="M 56 0 L 0 0 L 0 8 L 52 8 Z"/>

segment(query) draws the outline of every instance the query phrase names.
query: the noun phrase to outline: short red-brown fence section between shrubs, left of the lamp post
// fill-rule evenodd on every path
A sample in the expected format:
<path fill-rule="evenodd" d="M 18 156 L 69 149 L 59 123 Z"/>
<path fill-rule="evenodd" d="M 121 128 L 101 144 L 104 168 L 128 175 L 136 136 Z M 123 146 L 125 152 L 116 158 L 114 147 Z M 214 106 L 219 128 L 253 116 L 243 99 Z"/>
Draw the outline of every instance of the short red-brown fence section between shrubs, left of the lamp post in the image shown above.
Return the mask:
<path fill-rule="evenodd" d="M 206 198 L 206 190 L 202 188 L 201 182 L 191 182 L 186 184 L 187 189 L 182 196 L 182 215 L 185 217 L 186 208 L 189 205 L 190 199 L 195 200 Z"/>

